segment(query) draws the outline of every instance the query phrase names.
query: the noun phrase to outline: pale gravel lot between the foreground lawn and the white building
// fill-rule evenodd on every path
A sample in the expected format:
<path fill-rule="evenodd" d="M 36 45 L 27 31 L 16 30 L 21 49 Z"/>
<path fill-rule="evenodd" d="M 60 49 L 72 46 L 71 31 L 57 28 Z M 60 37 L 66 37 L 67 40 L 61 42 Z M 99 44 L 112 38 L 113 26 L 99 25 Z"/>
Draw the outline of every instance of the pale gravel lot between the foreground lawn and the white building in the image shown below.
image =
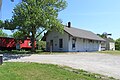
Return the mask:
<path fill-rule="evenodd" d="M 8 62 L 37 62 L 69 66 L 120 79 L 120 56 L 101 53 L 30 55 Z"/>

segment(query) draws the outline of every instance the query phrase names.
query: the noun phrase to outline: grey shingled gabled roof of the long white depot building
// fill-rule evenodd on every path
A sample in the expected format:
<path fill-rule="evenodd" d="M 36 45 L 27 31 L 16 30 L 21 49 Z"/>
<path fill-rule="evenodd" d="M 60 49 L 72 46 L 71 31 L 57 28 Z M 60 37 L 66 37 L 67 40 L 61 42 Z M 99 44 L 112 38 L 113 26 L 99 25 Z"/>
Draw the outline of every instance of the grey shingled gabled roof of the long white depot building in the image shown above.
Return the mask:
<path fill-rule="evenodd" d="M 103 38 L 99 37 L 97 34 L 94 34 L 91 31 L 78 29 L 78 28 L 73 28 L 73 27 L 70 27 L 70 28 L 69 27 L 64 27 L 64 30 L 74 37 L 105 41 Z"/>

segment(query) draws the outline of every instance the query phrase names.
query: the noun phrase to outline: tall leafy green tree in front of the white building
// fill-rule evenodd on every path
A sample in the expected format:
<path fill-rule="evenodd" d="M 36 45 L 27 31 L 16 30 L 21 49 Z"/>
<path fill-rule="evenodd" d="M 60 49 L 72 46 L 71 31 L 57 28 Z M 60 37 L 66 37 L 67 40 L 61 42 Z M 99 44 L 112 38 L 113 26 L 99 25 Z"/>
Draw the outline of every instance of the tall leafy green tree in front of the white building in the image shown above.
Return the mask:
<path fill-rule="evenodd" d="M 67 6 L 65 0 L 23 0 L 13 11 L 12 19 L 6 21 L 8 29 L 19 29 L 31 34 L 32 51 L 38 30 L 39 35 L 45 30 L 62 31 L 63 25 L 58 19 L 58 12 Z"/>

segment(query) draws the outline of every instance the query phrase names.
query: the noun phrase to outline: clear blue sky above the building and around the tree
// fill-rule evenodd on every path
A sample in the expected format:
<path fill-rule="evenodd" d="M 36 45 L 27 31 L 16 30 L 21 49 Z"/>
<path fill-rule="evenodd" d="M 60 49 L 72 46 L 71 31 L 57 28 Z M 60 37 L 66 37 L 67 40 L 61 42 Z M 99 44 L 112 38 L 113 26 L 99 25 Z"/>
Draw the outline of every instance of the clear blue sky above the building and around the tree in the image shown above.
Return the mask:
<path fill-rule="evenodd" d="M 15 2 L 3 0 L 2 20 L 10 19 Z M 112 33 L 112 38 L 120 38 L 120 0 L 67 0 L 68 7 L 59 13 L 63 24 L 71 22 L 73 27 L 94 33 Z M 5 31 L 10 33 L 9 31 Z"/>

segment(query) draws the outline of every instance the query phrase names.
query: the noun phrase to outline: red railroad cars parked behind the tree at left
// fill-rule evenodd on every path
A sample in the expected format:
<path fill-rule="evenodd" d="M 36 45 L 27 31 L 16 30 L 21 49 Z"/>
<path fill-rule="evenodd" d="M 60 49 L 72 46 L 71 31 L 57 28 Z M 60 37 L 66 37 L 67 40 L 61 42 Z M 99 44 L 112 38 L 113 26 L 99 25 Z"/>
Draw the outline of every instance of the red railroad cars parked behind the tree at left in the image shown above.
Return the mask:
<path fill-rule="evenodd" d="M 36 41 L 34 42 L 36 47 Z M 30 50 L 32 48 L 30 39 L 15 40 L 14 38 L 0 37 L 0 50 L 15 50 L 25 49 Z"/>

